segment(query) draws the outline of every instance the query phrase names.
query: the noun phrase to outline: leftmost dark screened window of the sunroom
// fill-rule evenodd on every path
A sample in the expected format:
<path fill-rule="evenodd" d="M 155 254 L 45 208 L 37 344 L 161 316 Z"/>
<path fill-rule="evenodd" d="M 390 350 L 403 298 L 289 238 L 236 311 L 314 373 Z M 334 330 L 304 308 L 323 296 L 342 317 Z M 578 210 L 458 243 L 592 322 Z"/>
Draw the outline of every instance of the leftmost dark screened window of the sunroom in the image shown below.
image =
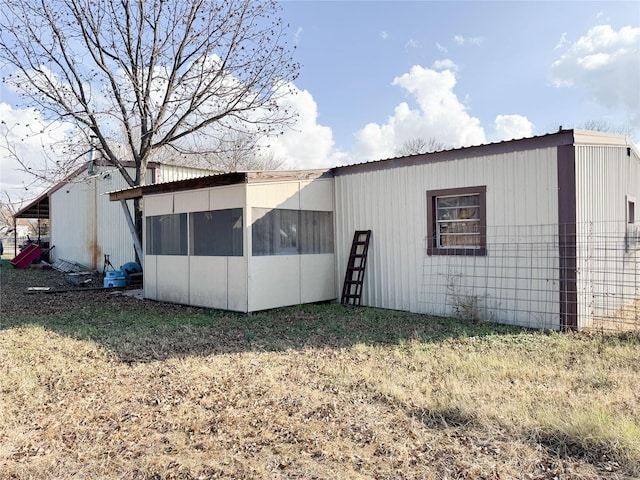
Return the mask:
<path fill-rule="evenodd" d="M 147 217 L 147 255 L 187 255 L 187 214 Z"/>

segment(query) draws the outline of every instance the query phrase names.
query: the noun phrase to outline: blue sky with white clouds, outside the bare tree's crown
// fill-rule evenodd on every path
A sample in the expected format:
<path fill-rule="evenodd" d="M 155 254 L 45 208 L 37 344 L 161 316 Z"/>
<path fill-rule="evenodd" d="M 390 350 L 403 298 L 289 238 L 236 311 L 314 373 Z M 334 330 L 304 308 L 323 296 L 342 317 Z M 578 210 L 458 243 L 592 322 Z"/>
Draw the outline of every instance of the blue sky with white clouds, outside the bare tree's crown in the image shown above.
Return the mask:
<path fill-rule="evenodd" d="M 594 121 L 640 142 L 638 1 L 289 0 L 282 17 L 301 65 L 285 102 L 299 117 L 269 148 L 289 168 L 389 158 L 416 137 L 455 148 Z M 55 138 L 20 142 L 37 112 L 12 100 L 0 84 L 0 119 L 22 122 L 11 134 L 37 158 Z M 0 190 L 24 190 L 15 165 L 1 167 Z"/>

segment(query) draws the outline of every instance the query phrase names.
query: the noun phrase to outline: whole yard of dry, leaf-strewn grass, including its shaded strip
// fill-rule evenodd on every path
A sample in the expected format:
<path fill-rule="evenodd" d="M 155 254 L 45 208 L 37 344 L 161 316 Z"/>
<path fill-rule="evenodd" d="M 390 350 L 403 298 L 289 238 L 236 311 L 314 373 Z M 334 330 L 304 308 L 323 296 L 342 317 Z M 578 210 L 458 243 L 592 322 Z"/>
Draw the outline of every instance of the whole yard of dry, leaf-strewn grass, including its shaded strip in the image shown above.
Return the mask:
<path fill-rule="evenodd" d="M 3 479 L 640 477 L 638 332 L 0 281 Z"/>

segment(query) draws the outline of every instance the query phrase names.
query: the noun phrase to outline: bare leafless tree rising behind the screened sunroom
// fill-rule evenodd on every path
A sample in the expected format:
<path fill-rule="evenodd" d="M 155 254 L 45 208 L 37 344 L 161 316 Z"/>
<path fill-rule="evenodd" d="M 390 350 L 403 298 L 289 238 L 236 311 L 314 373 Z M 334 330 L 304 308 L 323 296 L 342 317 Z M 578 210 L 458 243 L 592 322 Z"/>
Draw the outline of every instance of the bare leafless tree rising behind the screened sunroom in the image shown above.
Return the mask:
<path fill-rule="evenodd" d="M 273 0 L 0 0 L 3 81 L 131 186 L 155 152 L 280 130 L 298 65 Z M 125 152 L 112 148 L 124 132 Z M 84 137 L 78 139 L 78 137 Z M 123 158 L 133 159 L 130 175 Z M 141 213 L 136 208 L 138 235 Z"/>

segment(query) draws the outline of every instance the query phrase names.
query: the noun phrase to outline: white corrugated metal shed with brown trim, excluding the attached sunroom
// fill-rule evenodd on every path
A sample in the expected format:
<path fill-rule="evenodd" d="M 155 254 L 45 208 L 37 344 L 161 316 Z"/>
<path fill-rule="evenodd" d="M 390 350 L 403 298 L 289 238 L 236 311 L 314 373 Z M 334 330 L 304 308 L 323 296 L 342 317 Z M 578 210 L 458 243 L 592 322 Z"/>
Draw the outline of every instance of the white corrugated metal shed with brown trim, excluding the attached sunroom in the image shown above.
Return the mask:
<path fill-rule="evenodd" d="M 580 329 L 636 301 L 640 160 L 580 130 L 338 167 L 337 271 L 373 236 L 362 304 Z"/>

